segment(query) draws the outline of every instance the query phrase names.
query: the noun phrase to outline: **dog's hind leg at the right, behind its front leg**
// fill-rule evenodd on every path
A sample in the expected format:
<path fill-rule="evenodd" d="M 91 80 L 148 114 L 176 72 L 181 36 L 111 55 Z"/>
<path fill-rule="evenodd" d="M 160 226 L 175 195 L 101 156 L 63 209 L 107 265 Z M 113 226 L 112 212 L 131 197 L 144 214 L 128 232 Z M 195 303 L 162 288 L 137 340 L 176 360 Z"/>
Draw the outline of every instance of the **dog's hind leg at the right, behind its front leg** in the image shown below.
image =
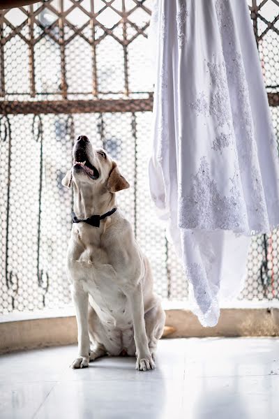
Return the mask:
<path fill-rule="evenodd" d="M 146 335 L 149 341 L 149 351 L 154 358 L 158 339 L 162 337 L 165 326 L 165 311 L 158 303 L 144 315 Z"/>

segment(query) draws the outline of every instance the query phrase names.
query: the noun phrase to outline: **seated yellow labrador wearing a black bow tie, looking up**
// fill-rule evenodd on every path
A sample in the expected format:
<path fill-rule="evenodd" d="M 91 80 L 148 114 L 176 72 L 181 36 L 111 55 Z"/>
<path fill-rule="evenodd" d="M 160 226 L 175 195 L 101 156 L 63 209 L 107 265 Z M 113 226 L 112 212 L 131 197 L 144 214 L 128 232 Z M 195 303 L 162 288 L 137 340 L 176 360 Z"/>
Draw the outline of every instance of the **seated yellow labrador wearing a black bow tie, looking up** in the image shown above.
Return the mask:
<path fill-rule="evenodd" d="M 115 193 L 129 184 L 110 156 L 85 136 L 75 142 L 73 168 L 62 184 L 73 187 L 74 196 L 67 274 L 78 354 L 71 367 L 88 367 L 106 354 L 127 354 L 136 355 L 136 369 L 153 369 L 165 313 L 153 293 L 149 261 L 116 207 Z"/>

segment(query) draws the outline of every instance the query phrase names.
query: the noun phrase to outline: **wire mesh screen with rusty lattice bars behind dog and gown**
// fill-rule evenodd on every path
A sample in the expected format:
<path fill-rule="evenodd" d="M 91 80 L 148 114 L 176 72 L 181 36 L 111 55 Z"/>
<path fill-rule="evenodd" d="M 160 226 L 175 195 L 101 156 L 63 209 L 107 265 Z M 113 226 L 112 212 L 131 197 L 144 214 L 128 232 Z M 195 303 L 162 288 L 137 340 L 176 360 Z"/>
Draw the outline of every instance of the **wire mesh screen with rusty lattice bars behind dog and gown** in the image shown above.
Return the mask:
<path fill-rule="evenodd" d="M 278 1 L 250 1 L 279 137 Z M 149 256 L 156 291 L 188 288 L 149 197 L 149 0 L 49 0 L 0 12 L 0 311 L 70 303 L 64 263 L 71 191 L 61 179 L 78 135 L 107 149 L 130 189 L 119 206 Z M 253 237 L 245 300 L 278 299 L 279 233 Z"/>

